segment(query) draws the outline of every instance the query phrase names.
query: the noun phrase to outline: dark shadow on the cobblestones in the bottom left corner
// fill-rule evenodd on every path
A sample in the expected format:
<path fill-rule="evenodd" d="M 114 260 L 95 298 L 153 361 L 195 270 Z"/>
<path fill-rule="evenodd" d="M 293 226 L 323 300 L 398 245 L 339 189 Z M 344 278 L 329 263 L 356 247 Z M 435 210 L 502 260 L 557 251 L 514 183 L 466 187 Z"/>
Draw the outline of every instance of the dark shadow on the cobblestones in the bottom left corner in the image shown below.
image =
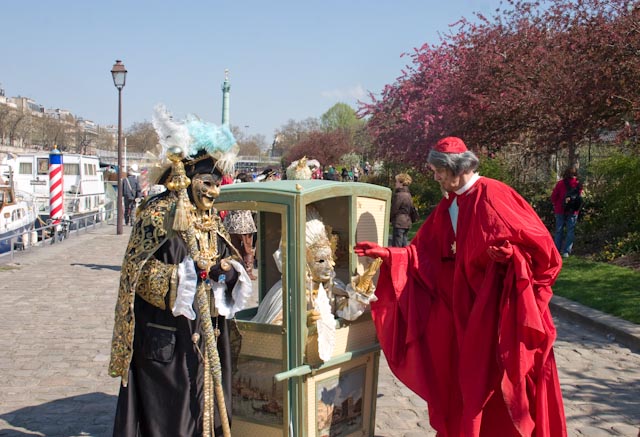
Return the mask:
<path fill-rule="evenodd" d="M 111 436 L 117 396 L 88 393 L 21 408 L 0 415 L 12 428 L 0 430 L 2 437 Z"/>

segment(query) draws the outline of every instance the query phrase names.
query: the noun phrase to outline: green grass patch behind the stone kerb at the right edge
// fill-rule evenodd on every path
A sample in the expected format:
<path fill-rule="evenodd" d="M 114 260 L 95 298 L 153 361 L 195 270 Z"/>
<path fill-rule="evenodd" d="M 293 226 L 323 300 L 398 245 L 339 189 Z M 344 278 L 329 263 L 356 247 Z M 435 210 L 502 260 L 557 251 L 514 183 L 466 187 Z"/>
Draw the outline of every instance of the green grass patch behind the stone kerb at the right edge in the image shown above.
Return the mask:
<path fill-rule="evenodd" d="M 564 261 L 555 294 L 640 323 L 640 271 L 577 257 Z"/>

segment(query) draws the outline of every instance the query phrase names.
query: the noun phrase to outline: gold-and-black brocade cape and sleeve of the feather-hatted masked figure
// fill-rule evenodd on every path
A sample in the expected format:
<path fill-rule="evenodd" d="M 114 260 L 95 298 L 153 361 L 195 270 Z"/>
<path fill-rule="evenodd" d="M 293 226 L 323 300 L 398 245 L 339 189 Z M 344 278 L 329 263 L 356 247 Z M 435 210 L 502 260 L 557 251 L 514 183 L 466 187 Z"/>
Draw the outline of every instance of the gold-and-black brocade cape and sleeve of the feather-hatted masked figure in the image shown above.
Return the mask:
<path fill-rule="evenodd" d="M 165 264 L 152 258 L 168 239 L 180 236 L 172 229 L 177 196 L 175 193 L 149 198 L 137 211 L 129 244 L 122 262 L 118 300 L 115 308 L 109 375 L 128 382 L 129 366 L 133 356 L 135 329 L 134 299 L 138 293 L 145 301 L 165 309 L 165 297 L 170 293 L 170 304 L 175 301 L 177 265 Z M 230 237 L 219 222 L 217 233 L 229 245 Z"/>

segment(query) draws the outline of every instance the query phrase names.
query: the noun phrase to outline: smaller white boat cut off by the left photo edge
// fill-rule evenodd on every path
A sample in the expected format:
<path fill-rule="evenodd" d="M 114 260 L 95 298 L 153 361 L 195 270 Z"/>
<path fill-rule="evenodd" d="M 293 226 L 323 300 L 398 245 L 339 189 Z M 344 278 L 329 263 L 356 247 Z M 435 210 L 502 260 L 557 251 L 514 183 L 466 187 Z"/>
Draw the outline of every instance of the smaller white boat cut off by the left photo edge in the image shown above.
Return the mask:
<path fill-rule="evenodd" d="M 9 252 L 12 242 L 23 247 L 35 243 L 36 217 L 32 196 L 16 190 L 11 167 L 0 165 L 0 253 Z"/>

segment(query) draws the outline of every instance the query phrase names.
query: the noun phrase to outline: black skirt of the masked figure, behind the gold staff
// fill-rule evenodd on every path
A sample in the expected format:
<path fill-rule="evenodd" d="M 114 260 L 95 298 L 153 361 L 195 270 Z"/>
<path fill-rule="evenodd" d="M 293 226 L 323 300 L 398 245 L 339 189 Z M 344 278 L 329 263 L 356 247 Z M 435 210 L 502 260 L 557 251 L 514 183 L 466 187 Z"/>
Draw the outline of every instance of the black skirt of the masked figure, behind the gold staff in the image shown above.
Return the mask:
<path fill-rule="evenodd" d="M 200 334 L 198 347 L 204 351 L 200 316 L 196 320 L 174 317 L 135 298 L 135 337 L 129 383 L 120 388 L 114 437 L 201 436 L 203 416 L 204 363 L 192 341 Z M 222 365 L 222 386 L 231 421 L 231 354 L 228 322 L 218 317 L 218 353 Z M 212 320 L 214 327 L 216 320 Z M 215 435 L 222 435 L 216 401 Z"/>

